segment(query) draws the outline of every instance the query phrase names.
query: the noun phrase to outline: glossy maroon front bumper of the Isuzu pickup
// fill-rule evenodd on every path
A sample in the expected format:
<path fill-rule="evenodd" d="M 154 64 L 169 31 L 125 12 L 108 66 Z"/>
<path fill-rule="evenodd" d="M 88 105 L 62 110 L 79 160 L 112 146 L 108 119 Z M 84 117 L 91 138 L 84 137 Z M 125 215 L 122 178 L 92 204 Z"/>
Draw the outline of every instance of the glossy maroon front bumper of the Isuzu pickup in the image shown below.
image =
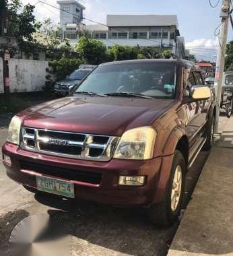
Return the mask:
<path fill-rule="evenodd" d="M 70 169 L 75 172 L 97 172 L 102 174 L 100 184 L 98 186 L 83 183 L 75 184 L 75 198 L 125 206 L 149 205 L 162 199 L 164 189 L 166 188 L 166 181 L 162 177 L 166 178 L 168 175 L 161 175 L 161 170 L 165 168 L 164 171 L 167 171 L 170 159 L 161 157 L 152 160 L 112 159 L 109 162 L 94 162 L 29 152 L 8 142 L 3 146 L 2 152 L 11 158 L 11 166 L 3 160 L 8 177 L 18 183 L 36 188 L 34 170 L 31 170 L 30 174 L 22 172 L 21 161 L 42 164 L 53 168 Z M 141 187 L 119 186 L 120 175 L 145 175 L 146 183 Z M 55 176 L 53 175 L 53 177 Z"/>

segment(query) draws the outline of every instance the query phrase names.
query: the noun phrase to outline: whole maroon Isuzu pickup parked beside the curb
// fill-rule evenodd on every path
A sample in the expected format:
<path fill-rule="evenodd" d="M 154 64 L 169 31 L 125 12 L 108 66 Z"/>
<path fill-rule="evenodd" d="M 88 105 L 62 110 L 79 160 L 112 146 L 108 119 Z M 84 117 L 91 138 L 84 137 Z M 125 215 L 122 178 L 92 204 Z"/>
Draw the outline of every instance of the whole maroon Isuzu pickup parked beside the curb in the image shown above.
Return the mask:
<path fill-rule="evenodd" d="M 7 175 L 35 193 L 147 206 L 179 215 L 185 174 L 213 139 L 215 104 L 194 63 L 99 65 L 67 98 L 15 115 L 2 148 Z"/>

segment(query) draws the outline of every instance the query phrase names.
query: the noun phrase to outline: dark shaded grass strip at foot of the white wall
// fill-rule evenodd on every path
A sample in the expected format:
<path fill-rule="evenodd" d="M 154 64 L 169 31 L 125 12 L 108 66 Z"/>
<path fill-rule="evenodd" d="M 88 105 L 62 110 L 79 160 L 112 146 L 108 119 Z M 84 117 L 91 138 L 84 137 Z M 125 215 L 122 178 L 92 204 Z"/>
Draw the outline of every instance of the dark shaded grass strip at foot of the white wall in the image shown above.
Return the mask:
<path fill-rule="evenodd" d="M 18 113 L 25 108 L 53 99 L 41 92 L 9 94 L 0 96 L 0 114 Z"/>

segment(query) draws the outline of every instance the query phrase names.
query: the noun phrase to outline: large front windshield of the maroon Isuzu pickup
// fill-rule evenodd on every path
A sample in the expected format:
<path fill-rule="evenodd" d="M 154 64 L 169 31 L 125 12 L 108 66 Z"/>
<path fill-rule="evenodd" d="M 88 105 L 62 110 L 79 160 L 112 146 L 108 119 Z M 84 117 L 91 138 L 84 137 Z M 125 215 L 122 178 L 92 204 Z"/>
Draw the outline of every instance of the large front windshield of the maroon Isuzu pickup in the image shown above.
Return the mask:
<path fill-rule="evenodd" d="M 94 92 L 110 96 L 121 96 L 121 93 L 128 92 L 153 98 L 174 98 L 175 91 L 174 63 L 141 62 L 99 66 L 86 77 L 75 92 Z"/>

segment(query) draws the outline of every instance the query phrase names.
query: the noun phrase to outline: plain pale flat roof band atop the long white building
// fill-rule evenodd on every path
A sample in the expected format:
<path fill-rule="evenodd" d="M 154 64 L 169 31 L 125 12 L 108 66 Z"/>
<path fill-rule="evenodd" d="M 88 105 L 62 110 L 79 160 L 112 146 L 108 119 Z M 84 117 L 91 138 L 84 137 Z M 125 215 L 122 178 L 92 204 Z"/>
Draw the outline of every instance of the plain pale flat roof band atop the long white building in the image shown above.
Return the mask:
<path fill-rule="evenodd" d="M 176 15 L 107 15 L 108 27 L 176 26 Z"/>

